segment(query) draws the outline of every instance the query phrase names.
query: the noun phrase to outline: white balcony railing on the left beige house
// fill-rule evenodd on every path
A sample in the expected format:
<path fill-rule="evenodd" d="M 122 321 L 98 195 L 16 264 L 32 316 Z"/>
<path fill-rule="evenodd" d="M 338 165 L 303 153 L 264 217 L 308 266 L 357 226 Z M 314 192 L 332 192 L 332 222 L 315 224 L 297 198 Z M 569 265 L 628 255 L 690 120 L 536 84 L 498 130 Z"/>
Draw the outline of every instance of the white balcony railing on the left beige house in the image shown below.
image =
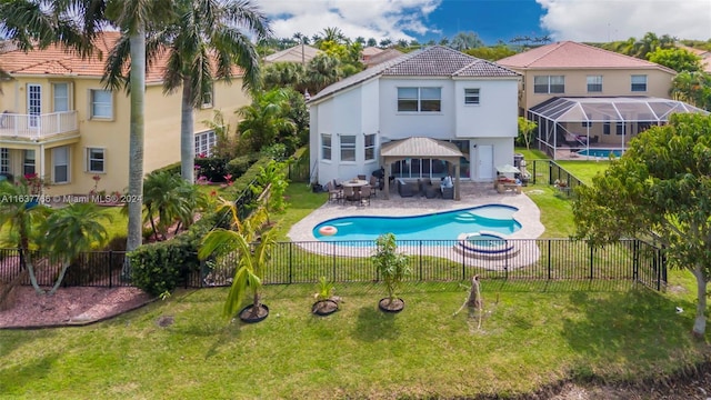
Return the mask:
<path fill-rule="evenodd" d="M 77 131 L 77 111 L 52 112 L 47 114 L 0 114 L 0 140 L 22 138 L 42 140 L 49 137 Z"/>

